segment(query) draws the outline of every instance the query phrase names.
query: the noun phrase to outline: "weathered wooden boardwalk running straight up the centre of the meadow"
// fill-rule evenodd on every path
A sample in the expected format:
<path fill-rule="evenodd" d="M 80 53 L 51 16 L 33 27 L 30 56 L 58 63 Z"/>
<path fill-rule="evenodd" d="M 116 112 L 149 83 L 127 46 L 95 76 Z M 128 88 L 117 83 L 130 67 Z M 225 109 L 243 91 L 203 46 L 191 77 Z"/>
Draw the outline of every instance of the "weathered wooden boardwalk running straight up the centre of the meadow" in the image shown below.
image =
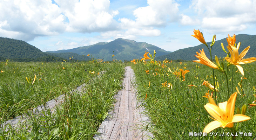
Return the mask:
<path fill-rule="evenodd" d="M 131 84 L 134 72 L 127 66 L 123 81 L 123 90 L 116 95 L 116 104 L 109 116 L 102 122 L 95 140 L 147 140 L 153 137 L 144 130 L 145 124 L 150 124 L 149 118 L 141 113 L 144 108 L 138 107 L 136 94 Z"/>

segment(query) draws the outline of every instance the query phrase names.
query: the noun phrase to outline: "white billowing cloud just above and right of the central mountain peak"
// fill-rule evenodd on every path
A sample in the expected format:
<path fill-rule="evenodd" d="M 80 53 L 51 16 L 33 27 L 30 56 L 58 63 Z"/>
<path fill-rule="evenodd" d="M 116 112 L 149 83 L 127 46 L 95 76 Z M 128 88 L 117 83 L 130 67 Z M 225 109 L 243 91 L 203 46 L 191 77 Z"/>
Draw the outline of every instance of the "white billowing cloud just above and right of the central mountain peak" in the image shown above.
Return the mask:
<path fill-rule="evenodd" d="M 148 0 L 148 6 L 139 7 L 133 11 L 135 20 L 120 18 L 119 25 L 121 30 L 115 37 L 135 39 L 135 36 L 160 36 L 161 31 L 155 27 L 165 27 L 169 22 L 176 22 L 179 4 L 174 0 Z M 113 33 L 113 32 L 112 32 Z M 102 33 L 102 36 L 110 34 Z"/>

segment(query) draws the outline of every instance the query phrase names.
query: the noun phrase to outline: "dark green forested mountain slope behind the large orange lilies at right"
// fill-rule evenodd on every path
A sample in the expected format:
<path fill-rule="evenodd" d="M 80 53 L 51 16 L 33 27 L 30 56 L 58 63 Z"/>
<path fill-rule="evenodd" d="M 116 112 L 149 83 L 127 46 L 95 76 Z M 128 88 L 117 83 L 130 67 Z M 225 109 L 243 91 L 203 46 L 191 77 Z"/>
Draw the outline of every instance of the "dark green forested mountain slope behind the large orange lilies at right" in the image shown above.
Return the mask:
<path fill-rule="evenodd" d="M 238 42 L 241 42 L 240 48 L 238 50 L 239 53 L 241 53 L 246 47 L 250 46 L 249 51 L 245 55 L 245 58 L 256 57 L 256 55 L 255 55 L 256 54 L 256 35 L 247 35 L 247 34 L 236 35 L 236 43 L 238 43 Z M 228 51 L 228 49 L 226 47 L 228 45 L 226 38 L 215 41 L 215 44 L 211 51 L 213 59 L 214 59 L 215 55 L 218 56 L 219 58 L 227 56 L 227 54 L 222 50 L 221 43 L 223 43 L 225 50 Z M 210 48 L 211 42 L 207 42 L 207 44 Z M 206 56 L 208 58 L 210 58 L 210 53 L 209 53 L 206 45 L 200 44 L 195 47 L 179 49 L 177 51 L 171 52 L 170 54 L 156 57 L 156 59 L 164 60 L 167 58 L 167 59 L 173 59 L 173 60 L 176 60 L 176 59 L 197 60 L 197 58 L 195 57 L 196 52 L 197 51 L 200 52 L 199 50 L 202 50 L 203 48 L 204 48 L 204 52 L 205 52 Z"/>

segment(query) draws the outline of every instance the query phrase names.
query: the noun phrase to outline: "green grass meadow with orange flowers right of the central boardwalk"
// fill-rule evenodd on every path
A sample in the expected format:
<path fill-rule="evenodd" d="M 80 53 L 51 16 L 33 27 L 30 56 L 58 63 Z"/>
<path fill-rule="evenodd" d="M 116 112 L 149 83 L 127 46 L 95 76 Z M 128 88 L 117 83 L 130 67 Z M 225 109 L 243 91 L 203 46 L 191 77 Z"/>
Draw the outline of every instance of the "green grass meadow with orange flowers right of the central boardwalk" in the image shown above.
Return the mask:
<path fill-rule="evenodd" d="M 137 90 L 140 99 L 146 103 L 145 107 L 149 117 L 152 120 L 152 124 L 148 127 L 148 130 L 154 134 L 155 139 L 231 139 L 231 137 L 189 137 L 189 132 L 203 132 L 204 127 L 213 121 L 210 118 L 208 112 L 204 109 L 204 105 L 208 103 L 205 93 L 209 90 L 206 86 L 200 86 L 204 80 L 209 81 L 213 84 L 212 69 L 208 66 L 198 64 L 195 62 L 187 63 L 166 63 L 166 67 L 162 68 L 161 65 L 148 63 L 144 65 L 142 62 L 133 64 L 135 71 Z M 197 68 L 196 65 L 200 66 Z M 245 71 L 245 77 L 243 79 L 242 87 L 245 96 L 237 95 L 236 107 L 242 109 L 243 104 L 252 104 L 256 100 L 255 90 L 253 87 L 256 86 L 256 63 L 242 65 Z M 185 74 L 185 80 L 182 82 L 181 79 L 172 74 L 172 72 L 178 69 L 189 70 L 190 72 Z M 186 67 L 186 69 L 184 68 Z M 231 77 L 231 66 L 228 67 L 228 76 Z M 158 70 L 156 70 L 158 69 Z M 149 74 L 146 73 L 149 70 Z M 157 72 L 157 75 L 156 75 Z M 153 75 L 155 74 L 155 76 Z M 220 85 L 220 92 L 216 94 L 217 103 L 225 102 L 229 99 L 227 90 L 227 81 L 225 75 L 220 71 L 215 70 L 215 77 Z M 236 91 L 237 86 L 241 92 L 241 88 L 238 86 L 240 82 L 241 74 L 237 72 L 235 66 L 233 66 L 233 84 L 232 80 L 228 81 L 230 95 Z M 150 86 L 149 86 L 150 81 Z M 168 87 L 162 87 L 162 83 L 171 83 L 172 89 Z M 195 85 L 188 86 L 188 85 Z M 148 87 L 149 86 L 149 87 Z M 232 92 L 233 91 L 233 92 Z M 232 93 L 231 93 L 232 92 Z M 145 99 L 147 94 L 147 99 Z M 248 105 L 249 106 L 249 105 Z M 236 111 L 235 111 L 236 114 Z M 256 108 L 251 107 L 248 109 L 247 116 L 251 117 L 250 120 L 244 121 L 239 124 L 238 132 L 251 132 L 253 137 L 256 135 Z M 237 123 L 234 123 L 235 126 Z M 212 132 L 226 133 L 231 131 L 227 128 L 217 128 Z M 236 137 L 237 140 L 252 139 L 253 137 Z"/>

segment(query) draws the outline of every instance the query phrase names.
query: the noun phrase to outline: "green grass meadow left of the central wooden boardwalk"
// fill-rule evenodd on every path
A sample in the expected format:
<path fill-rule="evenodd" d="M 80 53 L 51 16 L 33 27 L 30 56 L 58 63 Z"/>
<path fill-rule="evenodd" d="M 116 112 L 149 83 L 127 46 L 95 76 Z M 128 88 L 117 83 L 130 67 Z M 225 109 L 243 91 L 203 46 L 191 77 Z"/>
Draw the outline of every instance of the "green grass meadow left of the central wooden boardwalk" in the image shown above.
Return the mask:
<path fill-rule="evenodd" d="M 3 126 L 0 139 L 6 140 L 92 139 L 113 106 L 113 96 L 121 89 L 124 75 L 123 64 L 104 64 L 95 60 L 78 63 L 9 62 L 8 65 L 1 63 L 0 69 L 4 71 L 0 73 L 1 122 L 21 114 L 29 118 L 16 128 Z M 92 71 L 95 74 L 91 74 Z M 100 71 L 104 74 L 97 76 Z M 28 84 L 25 77 L 33 80 L 34 75 L 36 82 Z M 86 89 L 82 93 L 70 92 L 83 83 L 86 83 Z M 50 110 L 31 113 L 31 108 L 61 94 L 65 94 L 65 100 L 55 113 Z"/>

